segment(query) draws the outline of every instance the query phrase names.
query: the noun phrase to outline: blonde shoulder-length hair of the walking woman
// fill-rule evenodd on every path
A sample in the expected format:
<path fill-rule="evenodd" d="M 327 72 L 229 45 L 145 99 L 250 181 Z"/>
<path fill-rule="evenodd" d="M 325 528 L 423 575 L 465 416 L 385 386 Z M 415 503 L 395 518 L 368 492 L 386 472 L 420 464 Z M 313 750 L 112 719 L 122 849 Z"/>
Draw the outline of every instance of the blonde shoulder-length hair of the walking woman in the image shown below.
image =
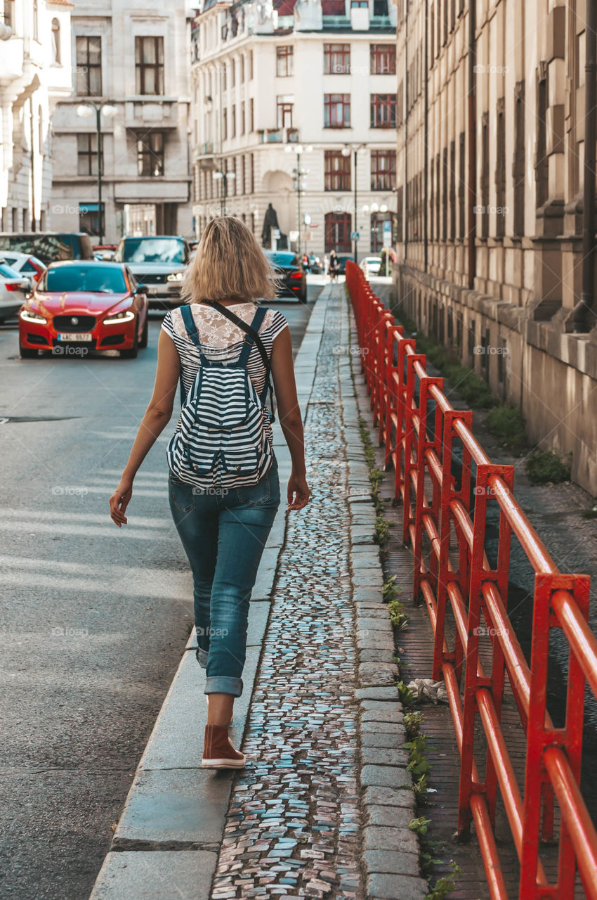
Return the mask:
<path fill-rule="evenodd" d="M 234 216 L 212 219 L 183 275 L 183 303 L 210 300 L 273 300 L 278 279 L 245 223 Z"/>

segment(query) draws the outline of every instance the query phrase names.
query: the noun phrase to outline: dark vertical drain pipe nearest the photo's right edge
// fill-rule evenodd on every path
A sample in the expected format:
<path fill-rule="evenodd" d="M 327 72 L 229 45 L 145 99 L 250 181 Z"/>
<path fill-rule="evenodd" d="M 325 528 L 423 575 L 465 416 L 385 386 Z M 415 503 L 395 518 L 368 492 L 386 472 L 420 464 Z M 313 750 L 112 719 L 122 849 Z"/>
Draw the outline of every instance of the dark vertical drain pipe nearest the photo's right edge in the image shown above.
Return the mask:
<path fill-rule="evenodd" d="M 576 332 L 586 333 L 596 322 L 595 299 L 595 103 L 597 80 L 597 7 L 586 4 L 584 64 L 584 190 L 583 190 L 583 290 L 575 306 Z"/>

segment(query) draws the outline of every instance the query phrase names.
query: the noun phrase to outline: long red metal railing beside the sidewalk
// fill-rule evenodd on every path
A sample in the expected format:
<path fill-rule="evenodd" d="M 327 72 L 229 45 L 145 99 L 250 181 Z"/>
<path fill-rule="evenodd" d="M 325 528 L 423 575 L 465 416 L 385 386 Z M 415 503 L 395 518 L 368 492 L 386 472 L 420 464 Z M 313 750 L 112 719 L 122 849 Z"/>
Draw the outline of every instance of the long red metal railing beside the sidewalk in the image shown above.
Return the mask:
<path fill-rule="evenodd" d="M 346 282 L 366 351 L 361 365 L 373 424 L 386 468 L 394 468 L 404 539 L 414 552 L 414 602 L 424 601 L 432 622 L 432 678 L 443 677 L 448 691 L 460 752 L 459 833 L 468 833 L 472 818 L 489 896 L 506 900 L 494 837 L 499 790 L 521 863 L 519 900 L 569 900 L 576 868 L 586 896 L 597 900 L 597 833 L 578 787 L 585 682 L 597 696 L 597 641 L 587 624 L 589 578 L 558 571 L 512 494 L 513 466 L 491 463 L 473 435 L 472 412 L 452 409 L 441 390 L 443 379 L 426 373 L 415 341 L 403 337 L 361 269 L 350 262 Z M 455 442 L 459 484 L 452 474 Z M 470 509 L 473 464 L 477 477 Z M 488 502 L 499 507 L 495 568 L 485 552 Z M 530 665 L 507 614 L 512 534 L 535 572 Z M 450 612 L 453 629 L 446 628 Z M 562 728 L 546 710 L 549 634 L 555 627 L 566 635 L 570 651 Z M 449 634 L 455 636 L 450 640 Z M 481 634 L 490 639 L 489 673 L 479 659 Z M 526 734 L 522 793 L 500 724 L 506 676 Z M 475 758 L 479 722 L 487 744 L 484 779 Z M 557 884 L 548 883 L 539 860 L 539 840 L 554 838 L 554 798 L 560 809 Z"/>

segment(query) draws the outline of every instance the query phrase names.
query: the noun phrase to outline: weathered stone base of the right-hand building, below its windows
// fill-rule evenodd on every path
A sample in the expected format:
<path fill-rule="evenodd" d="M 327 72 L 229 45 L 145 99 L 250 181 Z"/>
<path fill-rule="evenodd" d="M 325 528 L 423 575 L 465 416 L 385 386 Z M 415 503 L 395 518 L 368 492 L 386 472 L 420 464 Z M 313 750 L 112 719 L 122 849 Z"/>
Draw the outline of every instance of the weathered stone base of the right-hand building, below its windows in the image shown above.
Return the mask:
<path fill-rule="evenodd" d="M 532 443 L 572 454 L 572 478 L 597 494 L 597 329 L 569 334 L 558 314 L 514 306 L 404 265 L 392 307 L 453 347 L 503 402 L 521 410 Z"/>

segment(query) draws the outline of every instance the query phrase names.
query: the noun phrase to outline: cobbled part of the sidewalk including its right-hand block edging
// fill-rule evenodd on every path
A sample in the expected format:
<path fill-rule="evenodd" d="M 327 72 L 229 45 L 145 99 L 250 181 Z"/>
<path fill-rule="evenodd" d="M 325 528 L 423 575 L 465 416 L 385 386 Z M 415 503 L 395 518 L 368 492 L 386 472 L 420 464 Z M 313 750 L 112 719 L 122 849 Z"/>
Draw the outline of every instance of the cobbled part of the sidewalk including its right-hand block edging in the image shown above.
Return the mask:
<path fill-rule="evenodd" d="M 423 897 L 402 707 L 350 370 L 325 291 L 307 409 L 313 493 L 290 514 L 211 897 Z"/>

